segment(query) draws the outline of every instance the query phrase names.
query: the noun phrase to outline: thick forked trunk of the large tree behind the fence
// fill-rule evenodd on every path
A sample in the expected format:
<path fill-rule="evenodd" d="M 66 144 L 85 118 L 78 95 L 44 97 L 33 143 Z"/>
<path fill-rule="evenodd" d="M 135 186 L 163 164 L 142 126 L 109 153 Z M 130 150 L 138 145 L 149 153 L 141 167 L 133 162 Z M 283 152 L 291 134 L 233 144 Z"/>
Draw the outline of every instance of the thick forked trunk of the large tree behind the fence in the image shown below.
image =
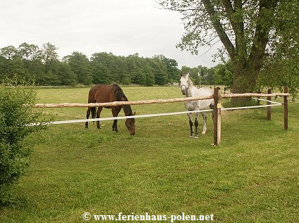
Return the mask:
<path fill-rule="evenodd" d="M 222 44 L 224 44 L 229 57 L 233 62 L 233 93 L 245 93 L 253 91 L 256 87 L 257 75 L 262 66 L 262 59 L 269 41 L 269 31 L 273 25 L 269 22 L 269 18 L 274 15 L 275 8 L 279 1 L 277 0 L 261 0 L 258 1 L 258 13 L 255 20 L 255 34 L 251 41 L 248 42 L 248 35 L 245 34 L 245 18 L 241 17 L 243 11 L 243 1 L 222 0 L 227 20 L 231 24 L 231 28 L 235 34 L 236 44 L 232 44 L 228 37 L 226 28 L 221 21 L 221 13 L 216 11 L 216 5 L 211 0 L 202 0 L 205 10 L 209 14 L 212 25 L 218 34 Z M 237 15 L 238 14 L 238 15 Z M 220 16 L 221 15 L 221 16 Z M 245 15 L 245 14 L 244 14 Z M 243 16 L 243 15 L 242 15 Z M 270 16 L 270 17 L 269 17 Z M 271 21 L 271 20 L 270 20 Z M 251 49 L 248 49 L 251 44 Z M 232 98 L 232 102 L 250 101 L 251 98 Z M 243 103 L 245 104 L 245 103 Z"/>

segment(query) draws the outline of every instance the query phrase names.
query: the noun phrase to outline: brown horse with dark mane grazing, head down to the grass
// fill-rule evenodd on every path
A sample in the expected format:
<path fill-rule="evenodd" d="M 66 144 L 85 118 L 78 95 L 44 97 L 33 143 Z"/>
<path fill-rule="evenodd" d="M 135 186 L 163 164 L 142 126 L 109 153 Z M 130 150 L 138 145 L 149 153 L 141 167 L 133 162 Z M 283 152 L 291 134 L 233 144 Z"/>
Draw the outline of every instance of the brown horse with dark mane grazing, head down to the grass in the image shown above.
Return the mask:
<path fill-rule="evenodd" d="M 90 93 L 88 94 L 88 103 L 101 103 L 101 102 L 112 102 L 112 101 L 128 101 L 128 98 L 125 94 L 123 94 L 123 90 L 117 84 L 106 85 L 106 84 L 97 84 L 94 85 L 90 89 Z M 112 115 L 117 117 L 118 113 L 123 108 L 123 112 L 126 116 L 135 115 L 132 113 L 132 109 L 129 105 L 123 106 L 109 106 L 104 108 L 111 108 Z M 99 118 L 103 107 L 97 108 L 97 118 Z M 88 108 L 86 113 L 86 118 L 90 117 L 90 112 L 92 113 L 92 117 L 96 116 L 96 107 Z M 126 119 L 126 127 L 130 132 L 130 135 L 135 135 L 135 119 L 127 118 Z M 85 128 L 88 128 L 88 122 L 85 122 Z M 97 128 L 100 129 L 99 121 L 97 121 Z M 114 120 L 112 125 L 112 131 L 118 132 L 117 129 L 117 120 Z"/>

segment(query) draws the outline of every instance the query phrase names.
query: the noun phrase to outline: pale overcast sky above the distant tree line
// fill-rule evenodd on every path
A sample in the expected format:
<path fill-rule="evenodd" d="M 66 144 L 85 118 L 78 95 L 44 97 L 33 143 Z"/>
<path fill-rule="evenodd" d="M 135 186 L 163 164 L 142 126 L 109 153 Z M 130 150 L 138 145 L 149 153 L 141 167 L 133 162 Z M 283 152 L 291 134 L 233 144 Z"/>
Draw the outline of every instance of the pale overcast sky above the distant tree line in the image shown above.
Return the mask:
<path fill-rule="evenodd" d="M 183 34 L 181 15 L 158 7 L 155 0 L 0 0 L 0 48 L 50 42 L 60 58 L 73 51 L 89 58 L 99 52 L 163 54 L 179 68 L 216 65 L 216 48 L 204 56 L 176 49 Z"/>

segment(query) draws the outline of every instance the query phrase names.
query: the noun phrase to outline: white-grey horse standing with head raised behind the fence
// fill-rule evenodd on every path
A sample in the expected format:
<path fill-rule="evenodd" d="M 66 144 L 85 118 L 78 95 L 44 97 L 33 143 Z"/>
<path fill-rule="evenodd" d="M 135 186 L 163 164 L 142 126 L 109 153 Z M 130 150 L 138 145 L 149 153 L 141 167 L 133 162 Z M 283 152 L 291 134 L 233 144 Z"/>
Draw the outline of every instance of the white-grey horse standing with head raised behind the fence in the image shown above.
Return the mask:
<path fill-rule="evenodd" d="M 193 86 L 193 82 L 189 77 L 189 73 L 183 73 L 181 75 L 180 86 L 182 94 L 186 97 L 200 97 L 200 96 L 209 96 L 214 93 L 212 89 L 207 87 L 202 87 L 198 89 L 197 87 Z M 203 110 L 205 108 L 214 108 L 214 100 L 213 99 L 206 99 L 206 100 L 198 100 L 198 101 L 185 101 L 185 108 L 187 110 Z M 192 113 L 188 113 L 189 117 L 189 125 L 190 125 L 190 137 L 193 137 L 193 120 L 192 120 Z M 202 117 L 204 120 L 203 127 L 202 127 L 202 134 L 205 134 L 207 131 L 207 114 L 202 113 Z M 198 138 L 198 113 L 195 113 L 195 138 Z"/>

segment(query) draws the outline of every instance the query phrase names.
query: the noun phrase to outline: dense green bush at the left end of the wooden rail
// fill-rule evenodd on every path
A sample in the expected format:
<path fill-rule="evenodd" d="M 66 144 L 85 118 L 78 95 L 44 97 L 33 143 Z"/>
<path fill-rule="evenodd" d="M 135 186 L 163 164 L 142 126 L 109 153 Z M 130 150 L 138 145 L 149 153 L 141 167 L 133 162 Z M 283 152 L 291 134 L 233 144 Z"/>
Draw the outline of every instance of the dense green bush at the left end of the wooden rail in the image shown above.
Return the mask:
<path fill-rule="evenodd" d="M 0 84 L 0 204 L 11 201 L 13 186 L 29 165 L 31 147 L 23 139 L 45 127 L 26 125 L 41 117 L 32 108 L 35 98 L 32 87 Z"/>

